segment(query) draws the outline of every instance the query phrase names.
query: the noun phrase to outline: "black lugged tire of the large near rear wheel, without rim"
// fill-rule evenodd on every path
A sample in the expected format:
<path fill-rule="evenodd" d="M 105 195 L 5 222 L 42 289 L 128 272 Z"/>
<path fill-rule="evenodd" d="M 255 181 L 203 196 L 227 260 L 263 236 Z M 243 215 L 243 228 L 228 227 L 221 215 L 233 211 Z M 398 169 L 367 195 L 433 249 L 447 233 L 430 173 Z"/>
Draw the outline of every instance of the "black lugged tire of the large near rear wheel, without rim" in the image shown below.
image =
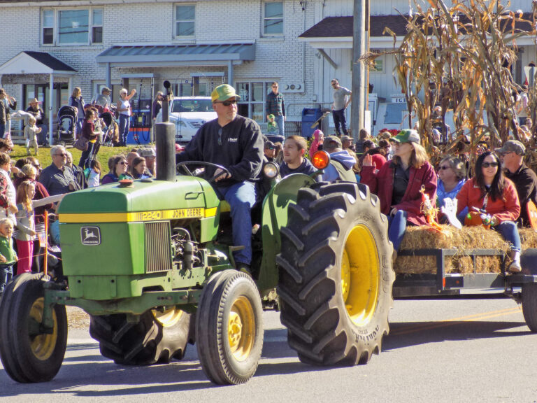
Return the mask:
<path fill-rule="evenodd" d="M 366 215 L 368 218 L 362 218 Z M 382 337 L 389 332 L 387 311 L 393 304 L 394 271 L 391 267 L 383 268 L 382 259 L 379 299 L 383 303 L 374 313 L 379 330 L 373 339 L 357 340 L 352 325 L 348 325 L 350 318 L 344 304 L 334 295 L 341 288 L 336 259 L 344 239 L 339 238 L 355 216 L 359 220 L 373 220 L 378 228 L 378 232 L 372 231 L 377 247 L 384 257 L 389 255 L 384 260 L 391 262 L 387 220 L 380 213 L 378 198 L 371 195 L 367 186 L 317 183 L 299 190 L 296 207 L 289 208 L 289 222 L 281 232 L 282 248 L 276 259 L 280 272 L 277 291 L 282 303 L 280 320 L 287 327 L 289 346 L 303 362 L 365 364 L 373 353 L 380 351 Z"/>

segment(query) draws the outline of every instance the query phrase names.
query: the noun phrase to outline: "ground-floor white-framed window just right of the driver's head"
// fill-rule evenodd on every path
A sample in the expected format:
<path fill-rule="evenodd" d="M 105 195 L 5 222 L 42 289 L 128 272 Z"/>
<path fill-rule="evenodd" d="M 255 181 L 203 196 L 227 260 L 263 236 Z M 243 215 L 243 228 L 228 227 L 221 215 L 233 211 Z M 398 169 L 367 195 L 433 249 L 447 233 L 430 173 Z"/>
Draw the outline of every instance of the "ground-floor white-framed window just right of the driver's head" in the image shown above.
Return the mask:
<path fill-rule="evenodd" d="M 258 123 L 264 122 L 266 120 L 266 96 L 272 91 L 271 85 L 273 81 L 241 81 L 235 83 L 237 95 L 241 97 L 237 103 L 238 114 L 253 119 Z"/>

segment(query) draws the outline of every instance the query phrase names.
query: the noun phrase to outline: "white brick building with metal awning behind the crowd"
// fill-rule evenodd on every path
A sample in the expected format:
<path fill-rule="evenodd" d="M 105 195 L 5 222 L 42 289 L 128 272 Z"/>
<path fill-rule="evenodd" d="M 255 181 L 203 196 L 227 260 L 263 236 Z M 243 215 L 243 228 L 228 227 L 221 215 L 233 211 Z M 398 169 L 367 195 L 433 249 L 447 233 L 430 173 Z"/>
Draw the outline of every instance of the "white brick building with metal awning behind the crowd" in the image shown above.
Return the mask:
<path fill-rule="evenodd" d="M 408 0 L 371 2 L 371 49 L 401 41 Z M 303 108 L 329 108 L 330 80 L 351 86 L 352 0 L 56 0 L 2 1 L 0 85 L 19 108 L 38 97 L 55 115 L 73 87 L 90 101 L 103 85 L 141 89 L 152 99 L 169 80 L 175 94 L 210 94 L 221 83 L 240 92 L 239 113 L 264 122 L 264 100 L 276 80 L 285 95 L 289 129 Z M 531 2 L 512 0 L 529 12 Z M 521 44 L 514 71 L 536 59 L 535 43 Z M 394 61 L 382 56 L 370 82 L 378 100 L 399 89 Z M 52 96 L 49 88 L 53 83 Z M 142 103 L 147 104 L 147 103 Z M 373 106 L 373 105 L 372 105 Z M 376 108 L 373 111 L 375 118 Z M 288 132 L 289 133 L 289 132 Z"/>

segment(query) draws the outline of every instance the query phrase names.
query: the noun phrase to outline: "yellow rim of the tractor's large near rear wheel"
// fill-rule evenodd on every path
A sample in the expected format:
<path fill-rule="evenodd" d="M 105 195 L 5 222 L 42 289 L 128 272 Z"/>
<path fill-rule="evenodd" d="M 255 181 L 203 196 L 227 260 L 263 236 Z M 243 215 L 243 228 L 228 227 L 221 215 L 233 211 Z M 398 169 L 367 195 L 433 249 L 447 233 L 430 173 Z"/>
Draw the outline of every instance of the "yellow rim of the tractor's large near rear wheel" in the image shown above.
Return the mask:
<path fill-rule="evenodd" d="M 341 257 L 341 295 L 357 326 L 371 320 L 380 287 L 380 264 L 373 234 L 365 225 L 352 229 Z"/>

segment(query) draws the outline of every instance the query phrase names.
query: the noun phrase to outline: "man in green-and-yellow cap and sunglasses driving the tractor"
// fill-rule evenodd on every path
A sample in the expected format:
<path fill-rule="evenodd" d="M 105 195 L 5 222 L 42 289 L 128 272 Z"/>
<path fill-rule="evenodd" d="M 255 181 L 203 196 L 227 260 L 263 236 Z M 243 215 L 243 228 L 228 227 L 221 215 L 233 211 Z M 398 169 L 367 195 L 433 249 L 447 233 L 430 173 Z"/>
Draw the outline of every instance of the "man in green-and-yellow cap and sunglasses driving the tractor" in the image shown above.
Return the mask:
<path fill-rule="evenodd" d="M 213 187 L 217 195 L 231 206 L 234 245 L 245 247 L 234 253 L 236 268 L 250 272 L 250 210 L 255 203 L 253 181 L 262 168 L 263 136 L 254 120 L 237 115 L 240 97 L 234 87 L 219 85 L 210 97 L 217 118 L 199 128 L 185 150 L 176 155 L 176 161 L 212 162 L 229 171 L 231 175 L 222 169 L 206 168 L 206 174 L 214 179 Z"/>

